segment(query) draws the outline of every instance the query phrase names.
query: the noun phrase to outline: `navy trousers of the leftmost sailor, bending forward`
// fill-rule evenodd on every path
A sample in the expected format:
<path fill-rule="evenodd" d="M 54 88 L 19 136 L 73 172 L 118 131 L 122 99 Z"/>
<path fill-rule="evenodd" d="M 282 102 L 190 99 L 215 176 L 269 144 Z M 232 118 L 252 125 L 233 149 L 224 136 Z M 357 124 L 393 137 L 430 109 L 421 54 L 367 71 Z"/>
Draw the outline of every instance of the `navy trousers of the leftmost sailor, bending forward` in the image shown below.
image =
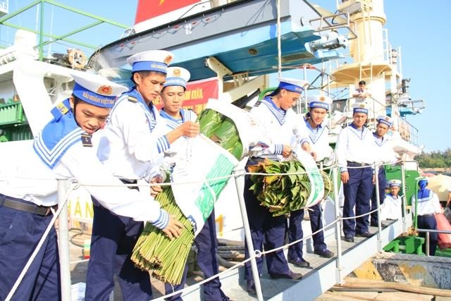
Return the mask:
<path fill-rule="evenodd" d="M 13 288 L 52 217 L 0 207 L 0 300 L 5 300 Z M 11 300 L 61 300 L 58 242 L 53 226 Z"/>

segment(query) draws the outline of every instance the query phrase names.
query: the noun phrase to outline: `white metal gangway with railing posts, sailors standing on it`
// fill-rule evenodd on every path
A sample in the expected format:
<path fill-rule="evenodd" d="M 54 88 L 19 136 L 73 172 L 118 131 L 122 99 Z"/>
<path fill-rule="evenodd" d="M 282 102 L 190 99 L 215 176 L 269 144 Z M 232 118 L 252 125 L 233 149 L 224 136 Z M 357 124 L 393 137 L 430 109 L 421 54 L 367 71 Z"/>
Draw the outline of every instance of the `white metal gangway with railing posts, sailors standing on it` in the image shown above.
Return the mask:
<path fill-rule="evenodd" d="M 381 164 L 374 164 L 376 174 L 378 173 L 378 168 Z M 300 272 L 304 276 L 300 281 L 294 281 L 289 279 L 271 279 L 267 273 L 263 273 L 260 277 L 257 272 L 257 264 L 255 258 L 267 254 L 269 252 L 275 252 L 276 250 L 264 250 L 264 252 L 254 252 L 251 240 L 248 241 L 249 254 L 254 254 L 252 257 L 246 260 L 250 261 L 252 264 L 252 270 L 254 274 L 254 280 L 257 288 L 257 300 L 299 300 L 299 294 L 302 293 L 302 300 L 314 300 L 319 297 L 322 293 L 326 292 L 333 285 L 340 285 L 344 283 L 345 276 L 350 274 L 354 269 L 357 269 L 362 263 L 366 262 L 371 256 L 377 252 L 381 252 L 383 247 L 388 244 L 391 240 L 397 238 L 403 232 L 407 231 L 407 228 L 412 225 L 412 219 L 409 218 L 409 214 L 406 213 L 406 199 L 405 188 L 402 186 L 402 219 L 397 221 L 391 221 L 390 223 L 381 223 L 379 219 L 378 227 L 371 227 L 370 232 L 373 234 L 370 238 L 359 238 L 356 237 L 354 242 L 342 241 L 341 236 L 341 223 L 342 217 L 340 214 L 340 202 L 339 202 L 339 186 L 338 186 L 338 166 L 328 166 L 323 168 L 325 171 L 330 171 L 332 173 L 332 178 L 334 180 L 334 190 L 333 190 L 333 209 L 335 214 L 335 219 L 332 222 L 325 223 L 326 226 L 320 231 L 325 231 L 326 242 L 328 242 L 328 248 L 335 252 L 335 257 L 326 259 L 321 258 L 314 254 L 305 253 L 304 258 L 311 263 L 311 268 L 297 268 L 290 264 L 290 269 L 295 272 Z M 405 178 L 405 169 L 402 165 L 402 179 Z M 245 209 L 245 202 L 240 194 L 242 191 L 242 185 L 244 185 L 244 177 L 247 173 L 244 169 L 235 169 L 232 175 L 228 178 L 235 180 L 237 188 L 237 197 L 240 203 L 241 216 L 243 221 L 243 226 L 245 230 L 245 235 L 250 236 L 249 223 L 247 221 L 247 212 Z M 376 191 L 378 193 L 378 177 L 376 177 Z M 205 179 L 208 180 L 208 179 Z M 178 183 L 167 183 L 167 185 L 177 185 Z M 68 219 L 68 196 L 72 190 L 78 189 L 83 185 L 93 186 L 96 183 L 78 183 L 78 181 L 73 179 L 58 180 L 58 210 L 54 214 L 54 221 L 59 217 L 60 221 L 66 221 Z M 130 184 L 133 185 L 133 184 Z M 150 184 L 152 185 L 152 184 Z M 161 185 L 161 184 L 159 184 Z M 146 185 L 147 187 L 149 185 Z M 380 202 L 379 196 L 377 195 L 378 208 L 373 211 L 378 211 L 380 213 Z M 370 211 L 369 214 L 371 214 Z M 238 214 L 238 213 L 237 213 Z M 18 287 L 20 281 L 25 275 L 27 268 L 32 263 L 39 247 L 41 247 L 42 242 L 44 242 L 53 222 L 49 224 L 49 228 L 44 233 L 44 236 L 37 245 L 35 252 L 33 252 L 32 257 L 30 257 L 29 262 L 23 269 L 22 274 L 16 281 L 13 289 L 9 293 L 6 300 L 10 300 L 13 296 L 14 291 Z M 307 225 L 306 225 L 307 226 Z M 311 238 L 311 234 L 308 234 L 307 229 L 309 225 L 304 228 L 303 240 L 306 241 Z M 315 233 L 312 233 L 315 234 Z M 70 259 L 69 259 L 69 237 L 68 237 L 68 223 L 59 223 L 59 252 L 61 260 L 61 286 L 62 286 L 62 300 L 72 300 L 71 299 L 71 282 L 70 282 Z M 292 242 L 294 244 L 299 242 L 297 240 Z M 283 249 L 288 250 L 289 245 L 284 245 Z M 245 262 L 239 262 L 234 266 L 226 269 L 219 273 L 218 277 L 221 278 L 222 288 L 225 293 L 233 300 L 256 300 L 256 297 L 249 295 L 245 290 L 245 280 L 243 278 L 243 269 Z M 214 276 L 214 277 L 216 277 Z M 212 278 L 214 278 L 212 277 Z M 183 290 L 183 292 L 178 291 L 173 293 L 183 293 L 183 300 L 202 300 L 201 285 L 209 279 L 190 285 Z M 165 297 L 168 297 L 165 296 Z M 163 296 L 157 297 L 156 300 L 163 300 Z"/>

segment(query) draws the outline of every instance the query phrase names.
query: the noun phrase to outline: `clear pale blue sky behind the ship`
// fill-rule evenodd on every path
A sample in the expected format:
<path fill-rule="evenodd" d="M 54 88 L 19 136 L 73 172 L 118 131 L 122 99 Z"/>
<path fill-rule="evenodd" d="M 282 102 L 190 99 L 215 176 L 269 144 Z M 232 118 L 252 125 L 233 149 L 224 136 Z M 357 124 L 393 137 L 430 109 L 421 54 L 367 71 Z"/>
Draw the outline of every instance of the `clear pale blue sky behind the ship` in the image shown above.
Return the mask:
<path fill-rule="evenodd" d="M 175 0 L 166 0 L 175 1 Z M 275 0 L 273 0 L 275 1 Z M 285 0 L 283 0 L 285 1 Z M 1 2 L 1 0 L 0 0 Z M 137 0 L 59 0 L 61 4 L 86 11 L 97 16 L 132 26 L 135 20 Z M 9 0 L 9 12 L 31 4 L 31 0 Z M 329 11 L 335 11 L 335 0 L 312 0 Z M 125 5 L 127 4 L 127 5 Z M 93 20 L 75 16 L 61 8 L 44 5 L 44 30 L 54 35 L 75 30 Z M 451 39 L 445 25 L 451 11 L 449 0 L 385 0 L 385 14 L 390 44 L 402 47 L 402 71 L 404 78 L 411 78 L 409 92 L 412 99 L 424 99 L 424 113 L 407 116 L 407 121 L 419 130 L 420 144 L 426 152 L 444 151 L 451 147 L 451 60 L 447 57 Z M 53 18 L 51 15 L 53 13 Z M 23 27 L 36 28 L 37 8 L 30 8 L 21 16 L 8 22 Z M 52 26 L 53 25 L 53 26 Z M 101 25 L 74 37 L 93 45 L 112 42 L 123 33 L 123 28 Z M 15 30 L 1 26 L 0 43 L 11 40 Z M 52 51 L 63 51 L 66 44 L 52 46 Z M 92 50 L 80 47 L 89 55 Z"/>

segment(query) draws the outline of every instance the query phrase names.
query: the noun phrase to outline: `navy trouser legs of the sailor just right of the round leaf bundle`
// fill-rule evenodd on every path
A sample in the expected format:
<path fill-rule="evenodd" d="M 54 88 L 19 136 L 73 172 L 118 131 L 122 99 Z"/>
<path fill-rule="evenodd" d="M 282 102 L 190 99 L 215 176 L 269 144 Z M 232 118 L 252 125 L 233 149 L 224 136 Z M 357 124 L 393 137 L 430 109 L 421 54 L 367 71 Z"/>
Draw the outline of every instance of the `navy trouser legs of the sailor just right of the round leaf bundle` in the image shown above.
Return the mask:
<path fill-rule="evenodd" d="M 323 228 L 323 221 L 321 221 L 321 204 L 316 204 L 309 209 L 310 216 L 310 226 L 311 233 L 319 231 Z M 302 221 L 304 220 L 304 209 L 291 211 L 290 212 L 290 225 L 288 226 L 288 239 L 290 242 L 295 240 L 300 240 L 304 237 L 304 232 L 302 231 Z M 290 245 L 288 248 L 288 258 L 289 259 L 301 259 L 302 258 L 302 246 L 304 241 L 297 242 L 295 245 Z M 324 242 L 324 232 L 320 231 L 313 235 L 313 247 L 317 252 L 322 252 L 326 250 L 327 246 Z"/>

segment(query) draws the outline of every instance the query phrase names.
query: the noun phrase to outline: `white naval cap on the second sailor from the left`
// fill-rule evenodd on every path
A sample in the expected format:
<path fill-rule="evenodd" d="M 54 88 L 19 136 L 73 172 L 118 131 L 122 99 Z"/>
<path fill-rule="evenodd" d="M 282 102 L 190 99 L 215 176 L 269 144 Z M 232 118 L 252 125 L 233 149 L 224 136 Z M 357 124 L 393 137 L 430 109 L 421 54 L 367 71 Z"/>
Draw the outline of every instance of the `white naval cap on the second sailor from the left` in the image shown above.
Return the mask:
<path fill-rule="evenodd" d="M 166 74 L 168 65 L 174 59 L 174 55 L 166 50 L 149 50 L 133 54 L 127 59 L 132 65 L 132 72 L 156 71 Z"/>

